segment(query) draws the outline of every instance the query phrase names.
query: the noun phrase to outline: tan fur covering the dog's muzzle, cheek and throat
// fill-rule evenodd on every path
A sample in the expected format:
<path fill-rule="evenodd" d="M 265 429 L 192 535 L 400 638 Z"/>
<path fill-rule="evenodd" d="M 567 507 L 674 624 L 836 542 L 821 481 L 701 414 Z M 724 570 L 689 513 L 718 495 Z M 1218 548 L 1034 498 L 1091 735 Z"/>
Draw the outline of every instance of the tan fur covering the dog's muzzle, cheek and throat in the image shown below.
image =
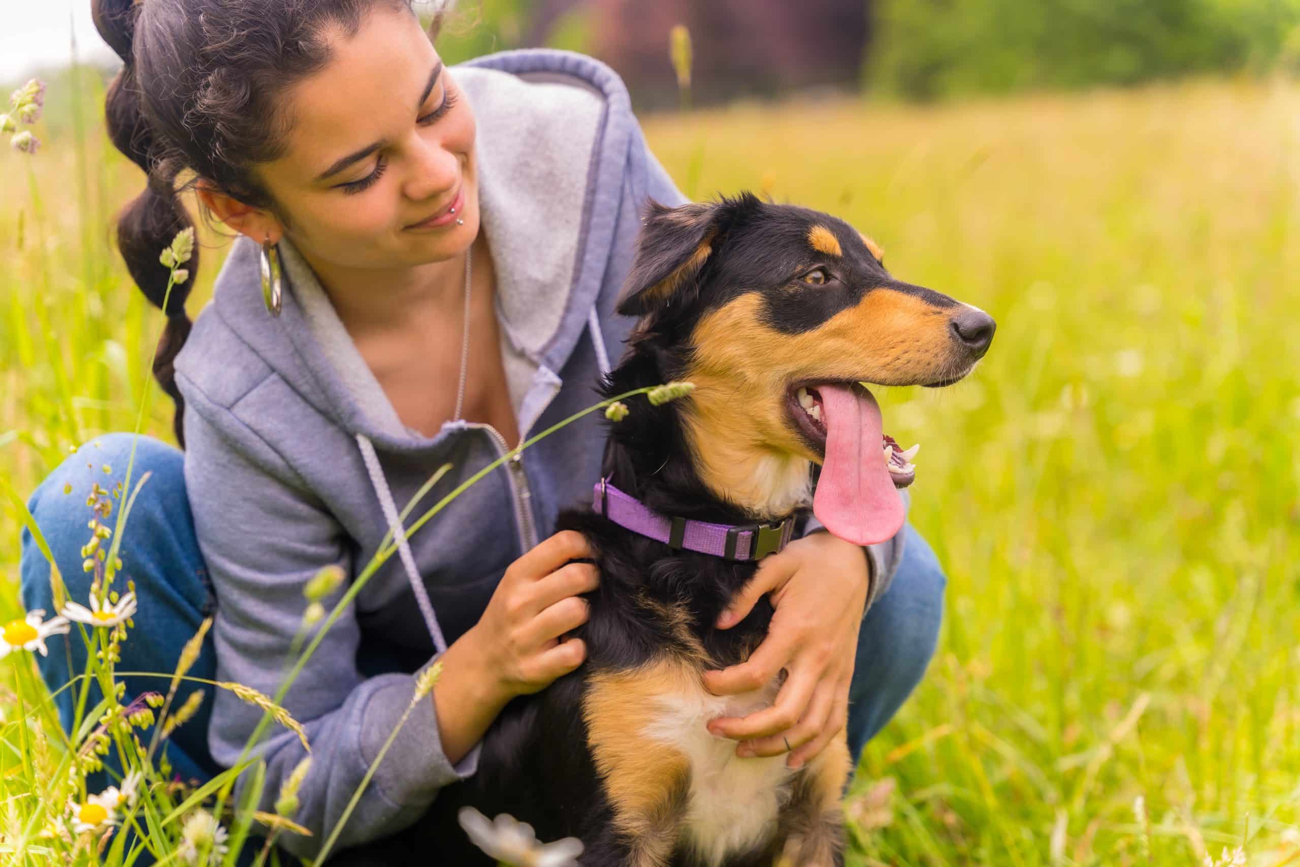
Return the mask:
<path fill-rule="evenodd" d="M 707 313 L 692 334 L 696 354 L 682 376 L 696 383 L 684 420 L 701 480 L 755 513 L 788 511 L 807 494 L 809 461 L 820 459 L 790 426 L 790 382 L 915 385 L 962 364 L 948 311 L 915 295 L 874 290 L 802 334 L 771 328 L 762 308 L 758 292 L 746 292 Z"/>

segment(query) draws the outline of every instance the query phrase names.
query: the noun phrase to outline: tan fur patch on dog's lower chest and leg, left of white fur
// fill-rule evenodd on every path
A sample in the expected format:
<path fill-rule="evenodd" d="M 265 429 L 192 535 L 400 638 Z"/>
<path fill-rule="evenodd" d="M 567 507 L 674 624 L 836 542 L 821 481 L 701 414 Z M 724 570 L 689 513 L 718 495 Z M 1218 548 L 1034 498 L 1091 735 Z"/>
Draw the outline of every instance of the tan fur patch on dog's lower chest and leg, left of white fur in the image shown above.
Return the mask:
<path fill-rule="evenodd" d="M 582 699 L 588 742 L 614 807 L 614 824 L 633 849 L 636 867 L 664 867 L 677 845 L 679 812 L 690 764 L 677 749 L 647 738 L 656 698 L 681 692 L 698 675 L 680 663 L 658 662 L 590 676 Z"/>

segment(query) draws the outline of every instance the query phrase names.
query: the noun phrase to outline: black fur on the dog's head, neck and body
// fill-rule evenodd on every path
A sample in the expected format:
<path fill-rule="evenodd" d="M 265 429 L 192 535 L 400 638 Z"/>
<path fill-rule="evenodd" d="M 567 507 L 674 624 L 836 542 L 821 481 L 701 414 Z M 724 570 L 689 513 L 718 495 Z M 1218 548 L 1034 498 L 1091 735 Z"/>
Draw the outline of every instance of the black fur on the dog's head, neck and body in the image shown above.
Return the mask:
<path fill-rule="evenodd" d="M 831 286 L 801 282 L 801 276 L 819 265 L 807 240 L 811 226 L 831 227 L 844 250 Z M 702 246 L 707 252 L 693 256 Z M 601 390 L 611 398 L 688 378 L 696 325 L 744 294 L 760 294 L 766 325 L 775 333 L 797 334 L 820 328 L 880 289 L 914 295 L 940 311 L 957 304 L 894 281 L 857 231 L 823 213 L 750 195 L 679 209 L 651 205 L 620 304 L 621 313 L 642 317 L 641 325 Z M 965 363 L 952 361 L 950 373 L 959 361 Z M 689 398 L 660 407 L 637 398 L 628 406 L 625 420 L 608 424 L 604 467 L 615 486 L 664 515 L 720 524 L 786 517 L 745 511 L 702 481 L 682 421 Z M 680 629 L 664 623 L 666 610 L 689 614 L 689 633 L 711 667 L 744 662 L 766 636 L 772 607 L 764 598 L 738 625 L 716 629 L 715 621 L 753 577 L 755 563 L 673 550 L 590 510 L 564 512 L 556 526 L 562 529 L 581 532 L 597 551 L 601 585 L 586 594 L 590 617 L 573 633 L 586 645 L 586 663 L 546 690 L 512 701 L 482 741 L 477 773 L 439 793 L 416 827 L 369 848 L 370 861 L 352 863 L 490 863 L 456 825 L 460 805 L 488 816 L 508 812 L 530 823 L 543 841 L 576 836 L 585 844 L 584 864 L 632 863 L 633 844 L 616 829 L 614 805 L 589 744 L 584 698 L 590 677 L 634 669 L 666 654 L 689 655 Z M 645 604 L 646 599 L 654 604 Z M 666 793 L 667 802 L 679 806 L 686 797 L 685 790 Z M 774 836 L 754 851 L 733 853 L 727 866 L 771 864 L 781 844 Z M 342 858 L 347 862 L 346 853 Z M 690 858 L 679 848 L 667 863 L 693 864 Z"/>

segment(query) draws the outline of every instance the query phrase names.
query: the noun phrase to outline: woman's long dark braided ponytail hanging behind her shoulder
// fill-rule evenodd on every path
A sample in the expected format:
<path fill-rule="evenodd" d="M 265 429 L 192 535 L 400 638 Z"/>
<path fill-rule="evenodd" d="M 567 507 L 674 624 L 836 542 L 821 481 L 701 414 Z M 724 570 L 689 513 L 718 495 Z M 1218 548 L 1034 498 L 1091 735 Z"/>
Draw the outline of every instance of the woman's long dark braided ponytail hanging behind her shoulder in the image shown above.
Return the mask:
<path fill-rule="evenodd" d="M 176 403 L 173 430 L 183 448 L 185 402 L 176 387 L 176 356 L 190 337 L 192 324 L 185 311 L 185 302 L 194 279 L 172 286 L 169 295 L 170 274 L 159 263 L 159 255 L 179 231 L 192 229 L 194 222 L 177 195 L 176 160 L 169 160 L 159 152 L 161 148 L 155 143 L 148 118 L 140 105 L 133 55 L 136 8 L 134 0 L 95 0 L 92 5 L 95 26 L 125 62 L 109 86 L 104 103 L 108 135 L 117 149 L 140 166 L 147 175 L 144 192 L 127 204 L 117 217 L 117 248 L 135 285 L 150 303 L 168 317 L 166 328 L 153 354 L 153 377 Z M 195 247 L 190 273 L 198 273 L 198 269 L 199 251 Z"/>

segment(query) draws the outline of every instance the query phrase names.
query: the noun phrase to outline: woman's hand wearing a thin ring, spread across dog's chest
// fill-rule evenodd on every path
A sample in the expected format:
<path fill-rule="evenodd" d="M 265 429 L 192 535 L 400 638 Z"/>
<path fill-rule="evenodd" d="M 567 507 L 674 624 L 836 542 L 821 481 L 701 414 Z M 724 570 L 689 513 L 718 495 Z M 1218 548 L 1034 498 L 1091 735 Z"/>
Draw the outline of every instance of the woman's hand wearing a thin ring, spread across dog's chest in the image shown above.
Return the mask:
<path fill-rule="evenodd" d="M 744 719 L 715 719 L 708 731 L 741 741 L 738 757 L 789 753 L 792 768 L 826 749 L 849 720 L 849 681 L 868 584 L 864 551 L 829 533 L 814 533 L 764 558 L 718 628 L 734 627 L 771 593 L 776 612 L 767 638 L 748 662 L 705 672 L 705 686 L 731 695 L 766 686 L 783 668 L 786 679 L 771 707 Z"/>

